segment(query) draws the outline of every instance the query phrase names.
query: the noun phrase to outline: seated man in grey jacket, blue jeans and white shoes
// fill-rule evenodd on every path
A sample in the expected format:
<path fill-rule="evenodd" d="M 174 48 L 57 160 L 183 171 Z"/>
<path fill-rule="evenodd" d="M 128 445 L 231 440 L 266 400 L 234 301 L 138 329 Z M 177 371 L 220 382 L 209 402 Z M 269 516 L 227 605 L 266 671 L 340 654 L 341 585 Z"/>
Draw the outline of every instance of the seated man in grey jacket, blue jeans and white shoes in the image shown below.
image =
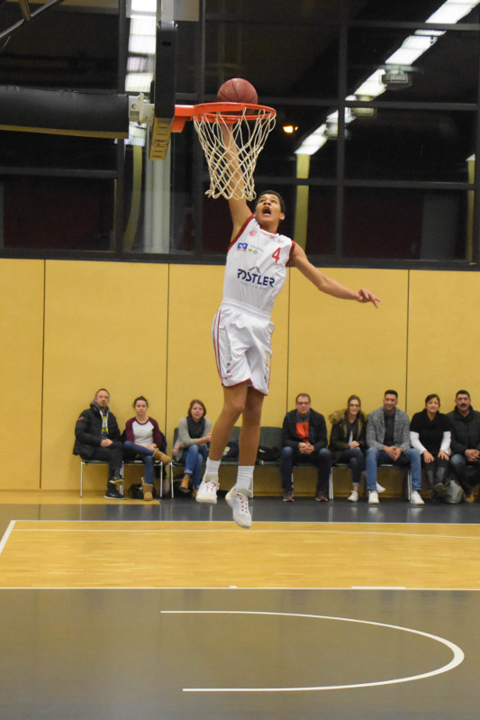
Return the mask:
<path fill-rule="evenodd" d="M 367 422 L 367 490 L 368 502 L 378 505 L 376 467 L 383 463 L 410 465 L 412 470 L 412 505 L 424 505 L 421 499 L 420 452 L 410 444 L 410 420 L 399 410 L 398 393 L 386 390 L 384 405 L 368 415 Z"/>

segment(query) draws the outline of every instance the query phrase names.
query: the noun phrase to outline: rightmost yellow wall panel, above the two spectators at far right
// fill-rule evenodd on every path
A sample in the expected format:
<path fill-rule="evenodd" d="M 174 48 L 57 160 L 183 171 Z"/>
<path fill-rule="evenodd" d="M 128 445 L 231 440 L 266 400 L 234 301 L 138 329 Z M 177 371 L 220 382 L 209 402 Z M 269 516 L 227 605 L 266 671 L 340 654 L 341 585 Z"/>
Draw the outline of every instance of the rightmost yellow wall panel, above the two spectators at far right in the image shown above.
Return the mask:
<path fill-rule="evenodd" d="M 480 282 L 477 272 L 412 270 L 409 303 L 408 414 L 438 393 L 441 412 L 466 389 L 480 408 Z"/>

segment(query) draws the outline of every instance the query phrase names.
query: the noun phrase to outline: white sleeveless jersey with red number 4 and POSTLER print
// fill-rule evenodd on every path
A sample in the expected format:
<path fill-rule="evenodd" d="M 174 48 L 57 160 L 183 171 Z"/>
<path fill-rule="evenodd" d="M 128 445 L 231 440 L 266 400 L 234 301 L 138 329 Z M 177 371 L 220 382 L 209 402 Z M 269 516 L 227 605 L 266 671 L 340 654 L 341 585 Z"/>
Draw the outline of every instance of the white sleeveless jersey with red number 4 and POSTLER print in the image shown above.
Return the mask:
<path fill-rule="evenodd" d="M 294 247 L 285 235 L 263 230 L 252 215 L 227 252 L 222 303 L 269 318 Z"/>

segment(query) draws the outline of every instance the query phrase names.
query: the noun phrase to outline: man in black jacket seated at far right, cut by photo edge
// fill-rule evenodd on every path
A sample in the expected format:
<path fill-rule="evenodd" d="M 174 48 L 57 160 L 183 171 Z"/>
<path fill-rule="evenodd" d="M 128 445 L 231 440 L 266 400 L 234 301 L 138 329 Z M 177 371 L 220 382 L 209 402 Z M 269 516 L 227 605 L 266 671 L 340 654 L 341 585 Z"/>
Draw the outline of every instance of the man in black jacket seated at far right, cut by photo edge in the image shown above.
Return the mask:
<path fill-rule="evenodd" d="M 472 407 L 470 394 L 458 390 L 455 409 L 447 415 L 451 429 L 450 467 L 465 492 L 474 501 L 473 488 L 480 482 L 480 413 Z"/>

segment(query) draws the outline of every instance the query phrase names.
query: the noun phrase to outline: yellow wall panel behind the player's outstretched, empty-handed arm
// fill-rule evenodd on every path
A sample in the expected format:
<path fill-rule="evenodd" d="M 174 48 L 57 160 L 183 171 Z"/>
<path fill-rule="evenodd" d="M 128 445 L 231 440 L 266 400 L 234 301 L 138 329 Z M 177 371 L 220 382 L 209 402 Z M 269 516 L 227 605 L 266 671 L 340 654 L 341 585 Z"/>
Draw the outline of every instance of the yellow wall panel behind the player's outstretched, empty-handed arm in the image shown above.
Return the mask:
<path fill-rule="evenodd" d="M 380 297 L 376 309 L 320 293 L 292 269 L 288 406 L 300 392 L 327 419 L 352 393 L 368 413 L 382 405 L 385 389 L 405 407 L 408 271 L 326 269 L 342 285 L 368 287 Z"/>

